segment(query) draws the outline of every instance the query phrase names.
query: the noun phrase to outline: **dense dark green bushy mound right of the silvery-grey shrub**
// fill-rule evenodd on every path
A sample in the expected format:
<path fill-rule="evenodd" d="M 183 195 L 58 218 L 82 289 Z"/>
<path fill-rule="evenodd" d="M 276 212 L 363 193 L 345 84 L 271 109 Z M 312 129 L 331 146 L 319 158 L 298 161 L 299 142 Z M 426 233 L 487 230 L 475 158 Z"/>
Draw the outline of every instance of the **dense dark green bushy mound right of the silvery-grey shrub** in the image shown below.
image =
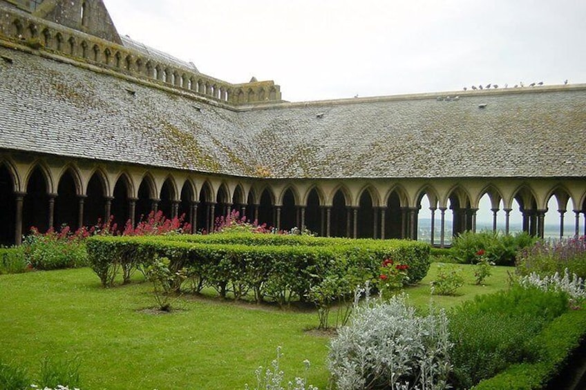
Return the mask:
<path fill-rule="evenodd" d="M 538 360 L 535 335 L 567 308 L 564 293 L 520 286 L 457 307 L 449 316 L 455 387 L 468 389 L 511 364 Z"/>

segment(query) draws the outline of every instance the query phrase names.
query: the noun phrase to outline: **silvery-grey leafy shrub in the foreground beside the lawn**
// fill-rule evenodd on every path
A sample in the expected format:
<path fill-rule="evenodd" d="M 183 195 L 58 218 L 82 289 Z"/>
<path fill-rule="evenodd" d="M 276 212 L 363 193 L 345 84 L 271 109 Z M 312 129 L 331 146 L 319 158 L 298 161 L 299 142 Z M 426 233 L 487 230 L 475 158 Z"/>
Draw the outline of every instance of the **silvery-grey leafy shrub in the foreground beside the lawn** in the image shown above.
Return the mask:
<path fill-rule="evenodd" d="M 406 295 L 355 308 L 352 323 L 330 342 L 337 389 L 446 389 L 451 365 L 443 311 L 417 315 Z"/>

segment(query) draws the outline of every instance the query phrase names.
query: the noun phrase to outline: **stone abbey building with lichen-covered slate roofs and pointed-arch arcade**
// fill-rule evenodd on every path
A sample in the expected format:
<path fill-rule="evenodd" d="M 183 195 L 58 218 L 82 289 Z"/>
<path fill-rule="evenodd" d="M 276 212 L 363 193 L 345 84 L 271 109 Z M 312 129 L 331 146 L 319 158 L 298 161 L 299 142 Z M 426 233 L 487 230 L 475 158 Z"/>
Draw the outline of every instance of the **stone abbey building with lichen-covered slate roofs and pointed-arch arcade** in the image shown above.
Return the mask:
<path fill-rule="evenodd" d="M 494 226 L 518 206 L 543 235 L 555 197 L 583 234 L 585 132 L 586 85 L 290 103 L 121 37 L 101 0 L 0 0 L 0 244 L 157 209 L 415 239 L 423 197 L 443 244 L 486 194 Z"/>

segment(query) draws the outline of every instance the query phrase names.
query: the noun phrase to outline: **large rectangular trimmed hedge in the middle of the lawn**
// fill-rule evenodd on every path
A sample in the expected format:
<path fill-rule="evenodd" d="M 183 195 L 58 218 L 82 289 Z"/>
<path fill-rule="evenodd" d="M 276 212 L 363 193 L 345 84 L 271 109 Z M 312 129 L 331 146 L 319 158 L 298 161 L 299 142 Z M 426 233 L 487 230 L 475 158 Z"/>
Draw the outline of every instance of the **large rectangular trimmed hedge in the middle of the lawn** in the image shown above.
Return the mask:
<path fill-rule="evenodd" d="M 91 268 L 104 286 L 124 271 L 158 257 L 171 260 L 170 269 L 186 268 L 196 291 L 212 286 L 221 296 L 240 298 L 254 293 L 257 302 L 305 299 L 311 286 L 330 275 L 375 280 L 389 257 L 408 264 L 415 284 L 429 269 L 429 246 L 400 240 L 348 240 L 321 237 L 218 234 L 142 237 L 91 237 L 86 242 Z M 178 288 L 179 286 L 177 286 Z"/>

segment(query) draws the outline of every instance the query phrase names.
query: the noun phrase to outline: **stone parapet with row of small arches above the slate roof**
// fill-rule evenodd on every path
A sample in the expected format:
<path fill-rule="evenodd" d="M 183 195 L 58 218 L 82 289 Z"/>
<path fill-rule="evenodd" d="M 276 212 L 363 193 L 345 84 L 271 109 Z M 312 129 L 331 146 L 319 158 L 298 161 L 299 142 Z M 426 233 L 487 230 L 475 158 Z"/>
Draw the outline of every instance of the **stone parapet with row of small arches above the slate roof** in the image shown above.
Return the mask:
<path fill-rule="evenodd" d="M 75 10 L 75 7 L 72 9 Z M 150 57 L 139 50 L 39 19 L 8 6 L 0 6 L 0 12 L 0 39 L 34 50 L 44 50 L 133 77 L 150 79 L 233 106 L 281 101 L 281 89 L 274 81 L 230 84 L 204 75 L 195 67 L 162 61 L 159 57 Z"/>

